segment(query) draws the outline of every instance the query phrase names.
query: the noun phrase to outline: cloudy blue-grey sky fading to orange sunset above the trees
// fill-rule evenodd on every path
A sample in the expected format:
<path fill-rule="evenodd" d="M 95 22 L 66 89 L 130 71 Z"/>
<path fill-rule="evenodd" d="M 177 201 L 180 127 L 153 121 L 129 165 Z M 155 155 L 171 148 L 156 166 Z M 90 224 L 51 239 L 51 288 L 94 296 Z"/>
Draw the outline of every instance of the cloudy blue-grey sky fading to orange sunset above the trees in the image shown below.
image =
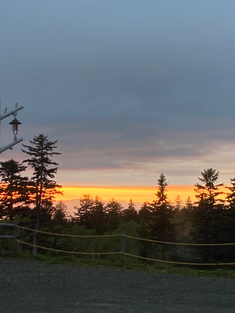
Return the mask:
<path fill-rule="evenodd" d="M 123 187 L 120 197 L 135 200 L 138 187 L 135 201 L 144 201 L 161 173 L 171 197 L 193 196 L 207 168 L 229 184 L 234 10 L 233 0 L 3 1 L 1 112 L 24 106 L 24 144 L 41 133 L 58 140 L 64 199 L 96 187 L 108 200 L 108 189 Z M 1 123 L 1 146 L 13 140 L 10 121 Z M 23 161 L 20 149 L 1 160 Z"/>

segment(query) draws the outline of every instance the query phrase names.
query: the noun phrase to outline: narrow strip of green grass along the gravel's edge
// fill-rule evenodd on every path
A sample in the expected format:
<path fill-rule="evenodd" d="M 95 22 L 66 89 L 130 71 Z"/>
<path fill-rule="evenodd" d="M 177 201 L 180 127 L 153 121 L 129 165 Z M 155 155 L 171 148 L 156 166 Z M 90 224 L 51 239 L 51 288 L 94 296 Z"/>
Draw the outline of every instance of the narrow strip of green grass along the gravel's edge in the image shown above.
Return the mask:
<path fill-rule="evenodd" d="M 6 256 L 6 257 L 9 257 Z M 203 277 L 225 277 L 235 279 L 235 269 L 217 268 L 217 269 L 196 269 L 190 267 L 172 266 L 166 264 L 148 265 L 144 262 L 127 258 L 125 263 L 119 259 L 120 256 L 110 259 L 83 259 L 72 256 L 51 256 L 47 254 L 38 254 L 34 256 L 29 252 L 22 252 L 17 258 L 34 259 L 46 262 L 48 264 L 67 264 L 75 267 L 92 267 L 92 268 L 113 268 L 129 269 L 133 271 L 148 271 L 150 273 L 162 275 L 185 275 L 185 276 L 203 276 Z"/>

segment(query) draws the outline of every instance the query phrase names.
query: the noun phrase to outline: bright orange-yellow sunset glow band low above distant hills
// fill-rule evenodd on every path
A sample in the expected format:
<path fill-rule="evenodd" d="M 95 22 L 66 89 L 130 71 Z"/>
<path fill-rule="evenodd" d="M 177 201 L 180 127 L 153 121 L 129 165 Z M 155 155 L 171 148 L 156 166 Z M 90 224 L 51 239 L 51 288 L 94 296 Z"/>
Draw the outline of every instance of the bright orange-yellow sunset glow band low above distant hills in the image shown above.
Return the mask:
<path fill-rule="evenodd" d="M 192 201 L 196 200 L 194 186 L 171 185 L 167 188 L 168 200 L 174 202 L 175 197 L 180 195 L 182 201 L 189 196 Z M 96 187 L 96 186 L 64 186 L 61 188 L 63 196 L 56 195 L 55 200 L 71 200 L 81 198 L 83 194 L 91 194 L 92 197 L 98 195 L 102 200 L 108 201 L 111 198 L 117 200 L 134 202 L 153 201 L 156 196 L 157 187 Z"/>

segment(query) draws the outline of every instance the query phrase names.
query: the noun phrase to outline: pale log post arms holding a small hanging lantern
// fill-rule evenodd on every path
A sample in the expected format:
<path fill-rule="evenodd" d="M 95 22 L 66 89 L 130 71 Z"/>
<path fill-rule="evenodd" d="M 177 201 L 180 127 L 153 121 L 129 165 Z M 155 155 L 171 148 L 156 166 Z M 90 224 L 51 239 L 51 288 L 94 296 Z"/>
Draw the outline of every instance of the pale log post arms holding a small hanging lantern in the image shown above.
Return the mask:
<path fill-rule="evenodd" d="M 23 141 L 22 138 L 19 138 L 17 139 L 16 135 L 17 135 L 17 132 L 18 132 L 18 129 L 19 129 L 19 124 L 21 124 L 21 122 L 19 122 L 17 119 L 16 119 L 16 115 L 17 115 L 17 111 L 23 109 L 23 106 L 18 106 L 18 103 L 15 104 L 15 108 L 13 110 L 10 110 L 9 112 L 7 112 L 7 108 L 5 108 L 5 111 L 4 111 L 4 114 L 1 115 L 1 100 L 0 100 L 0 123 L 1 121 L 10 116 L 10 115 L 13 115 L 14 116 L 14 119 L 13 121 L 11 121 L 9 124 L 12 125 L 12 130 L 13 130 L 13 134 L 15 135 L 14 136 L 14 141 L 12 141 L 11 143 L 8 143 L 8 145 L 0 148 L 0 154 L 3 152 L 3 151 L 6 151 L 7 149 L 11 149 L 12 150 L 12 147 L 16 144 L 18 144 L 20 141 Z"/>

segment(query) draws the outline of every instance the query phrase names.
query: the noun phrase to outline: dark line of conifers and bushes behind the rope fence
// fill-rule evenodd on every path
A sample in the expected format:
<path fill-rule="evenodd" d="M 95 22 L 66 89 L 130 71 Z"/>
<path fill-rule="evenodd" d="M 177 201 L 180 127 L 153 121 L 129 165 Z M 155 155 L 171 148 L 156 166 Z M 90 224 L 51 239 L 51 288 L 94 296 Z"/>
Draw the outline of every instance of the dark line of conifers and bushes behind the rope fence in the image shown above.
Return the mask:
<path fill-rule="evenodd" d="M 84 194 L 70 216 L 66 205 L 60 201 L 54 205 L 61 186 L 54 180 L 58 163 L 52 160 L 56 141 L 39 135 L 23 145 L 28 159 L 0 162 L 0 218 L 4 222 L 17 220 L 20 225 L 51 233 L 74 235 L 103 235 L 120 233 L 130 236 L 171 243 L 223 244 L 235 243 L 235 178 L 231 179 L 227 194 L 218 184 L 219 172 L 209 168 L 201 173 L 196 183 L 197 201 L 190 197 L 185 205 L 178 195 L 175 204 L 168 201 L 168 182 L 162 173 L 157 180 L 155 199 L 144 202 L 139 211 L 130 199 L 128 208 L 114 198 L 104 204 L 99 196 Z M 23 175 L 27 167 L 33 169 L 32 177 Z M 4 230 L 0 230 L 1 233 Z M 97 239 L 60 238 L 34 232 L 23 232 L 24 240 L 53 249 L 77 252 L 119 251 L 116 237 Z M 0 251 L 9 249 L 9 240 L 0 242 Z M 22 249 L 31 249 L 24 246 Z M 145 258 L 188 263 L 235 262 L 234 245 L 181 246 L 127 238 L 128 253 Z M 34 254 L 38 251 L 34 247 Z M 49 253 L 41 251 L 41 253 Z M 102 255 L 101 255 L 102 256 Z"/>

